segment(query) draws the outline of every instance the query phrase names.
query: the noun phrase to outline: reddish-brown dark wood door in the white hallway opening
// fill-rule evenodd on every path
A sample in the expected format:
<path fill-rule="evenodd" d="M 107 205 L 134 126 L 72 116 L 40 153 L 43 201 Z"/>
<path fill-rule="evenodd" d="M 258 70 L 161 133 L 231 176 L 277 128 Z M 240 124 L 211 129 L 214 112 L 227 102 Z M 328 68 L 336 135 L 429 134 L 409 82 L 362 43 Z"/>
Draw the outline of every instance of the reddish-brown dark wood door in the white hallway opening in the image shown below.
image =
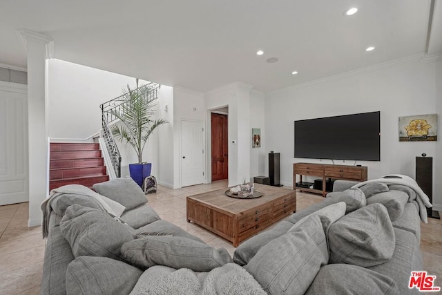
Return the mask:
<path fill-rule="evenodd" d="M 211 114 L 212 181 L 229 177 L 227 115 Z"/>

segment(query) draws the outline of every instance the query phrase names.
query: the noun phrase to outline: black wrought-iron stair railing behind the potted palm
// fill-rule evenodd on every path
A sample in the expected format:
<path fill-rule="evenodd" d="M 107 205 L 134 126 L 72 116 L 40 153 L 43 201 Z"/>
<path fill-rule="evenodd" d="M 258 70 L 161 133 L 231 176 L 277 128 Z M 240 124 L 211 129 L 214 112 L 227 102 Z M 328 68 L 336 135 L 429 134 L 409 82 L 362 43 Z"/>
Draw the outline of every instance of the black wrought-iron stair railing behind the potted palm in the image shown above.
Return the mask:
<path fill-rule="evenodd" d="M 160 89 L 160 86 L 160 84 L 151 82 L 149 84 L 140 86 L 139 88 L 135 89 L 135 91 L 140 91 L 140 93 L 142 93 L 144 96 L 144 99 L 146 99 L 146 104 L 148 104 L 158 98 L 158 89 Z M 111 99 L 108 102 L 104 102 L 104 104 L 100 104 L 99 106 L 102 109 L 102 135 L 104 137 L 104 142 L 106 143 L 106 148 L 108 150 L 109 157 L 111 158 L 112 166 L 115 170 L 117 178 L 121 177 L 122 157 L 118 151 L 118 147 L 115 143 L 115 139 L 113 138 L 112 131 L 109 128 L 109 124 L 118 119 L 115 116 L 115 113 L 122 113 L 124 110 L 122 105 L 127 101 L 126 95 L 127 93 L 124 93 L 123 95 Z"/>

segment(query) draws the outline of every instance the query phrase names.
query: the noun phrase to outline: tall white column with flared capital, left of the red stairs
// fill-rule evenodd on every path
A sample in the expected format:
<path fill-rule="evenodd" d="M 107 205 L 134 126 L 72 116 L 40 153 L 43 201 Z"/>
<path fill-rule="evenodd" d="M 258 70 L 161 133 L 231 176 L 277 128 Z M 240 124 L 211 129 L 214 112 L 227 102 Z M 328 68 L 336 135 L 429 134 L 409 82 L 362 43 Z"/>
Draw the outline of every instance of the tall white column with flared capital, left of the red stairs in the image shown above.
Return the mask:
<path fill-rule="evenodd" d="M 48 196 L 48 126 L 46 104 L 46 59 L 53 41 L 46 35 L 19 30 L 28 57 L 28 227 L 41 225 L 40 204 Z"/>

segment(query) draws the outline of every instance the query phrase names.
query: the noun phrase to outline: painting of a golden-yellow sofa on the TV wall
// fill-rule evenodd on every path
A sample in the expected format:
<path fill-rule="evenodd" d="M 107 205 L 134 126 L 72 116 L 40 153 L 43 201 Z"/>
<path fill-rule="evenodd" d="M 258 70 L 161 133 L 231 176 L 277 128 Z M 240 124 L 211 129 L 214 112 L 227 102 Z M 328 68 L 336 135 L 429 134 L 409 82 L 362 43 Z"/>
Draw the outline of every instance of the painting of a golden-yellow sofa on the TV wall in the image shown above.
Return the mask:
<path fill-rule="evenodd" d="M 437 114 L 399 117 L 400 142 L 435 142 Z"/>

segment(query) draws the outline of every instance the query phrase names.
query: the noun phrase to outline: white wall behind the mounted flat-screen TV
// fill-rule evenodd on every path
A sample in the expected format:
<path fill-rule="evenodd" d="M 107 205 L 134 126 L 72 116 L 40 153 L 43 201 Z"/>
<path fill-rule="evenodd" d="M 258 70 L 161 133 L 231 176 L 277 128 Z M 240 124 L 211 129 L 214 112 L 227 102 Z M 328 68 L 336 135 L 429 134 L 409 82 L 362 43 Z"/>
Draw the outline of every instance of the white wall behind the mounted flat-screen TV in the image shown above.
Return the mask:
<path fill-rule="evenodd" d="M 294 162 L 319 162 L 294 158 L 294 120 L 381 111 L 381 162 L 357 164 L 368 166 L 369 179 L 388 173 L 414 178 L 415 157 L 421 153 L 435 157 L 433 202 L 442 204 L 441 61 L 424 63 L 414 57 L 349 74 L 267 94 L 265 143 L 266 149 L 281 153 L 282 184 L 293 185 Z M 398 141 L 398 117 L 430 113 L 439 114 L 438 142 Z"/>

